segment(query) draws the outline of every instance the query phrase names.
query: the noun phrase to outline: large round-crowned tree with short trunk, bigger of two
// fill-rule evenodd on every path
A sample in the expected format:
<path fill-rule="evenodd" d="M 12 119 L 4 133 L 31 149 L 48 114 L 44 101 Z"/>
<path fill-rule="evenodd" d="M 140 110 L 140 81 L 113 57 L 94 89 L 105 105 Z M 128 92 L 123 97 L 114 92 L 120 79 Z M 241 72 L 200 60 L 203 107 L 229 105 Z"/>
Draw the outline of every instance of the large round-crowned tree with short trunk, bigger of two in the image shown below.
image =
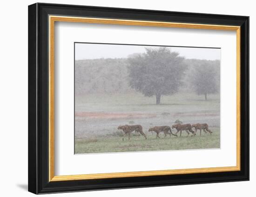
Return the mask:
<path fill-rule="evenodd" d="M 172 95 L 182 84 L 186 65 L 184 57 L 166 47 L 146 48 L 146 53 L 128 58 L 131 88 L 145 96 L 156 97 L 160 104 L 162 95 Z"/>

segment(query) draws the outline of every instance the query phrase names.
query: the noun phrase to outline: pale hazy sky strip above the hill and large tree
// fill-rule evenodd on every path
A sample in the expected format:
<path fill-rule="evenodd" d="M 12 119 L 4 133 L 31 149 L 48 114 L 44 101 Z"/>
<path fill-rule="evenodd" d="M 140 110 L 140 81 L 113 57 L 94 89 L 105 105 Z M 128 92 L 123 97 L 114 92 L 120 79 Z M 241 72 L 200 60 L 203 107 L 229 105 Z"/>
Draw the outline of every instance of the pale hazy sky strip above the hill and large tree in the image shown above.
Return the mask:
<path fill-rule="evenodd" d="M 121 58 L 128 57 L 133 53 L 145 52 L 145 47 L 158 46 L 137 46 L 137 45 L 119 45 L 119 44 L 75 44 L 75 60 L 80 59 L 98 59 L 98 58 Z M 191 47 L 170 47 L 171 51 L 180 53 L 188 59 L 221 59 L 221 49 L 210 48 L 191 48 Z"/>

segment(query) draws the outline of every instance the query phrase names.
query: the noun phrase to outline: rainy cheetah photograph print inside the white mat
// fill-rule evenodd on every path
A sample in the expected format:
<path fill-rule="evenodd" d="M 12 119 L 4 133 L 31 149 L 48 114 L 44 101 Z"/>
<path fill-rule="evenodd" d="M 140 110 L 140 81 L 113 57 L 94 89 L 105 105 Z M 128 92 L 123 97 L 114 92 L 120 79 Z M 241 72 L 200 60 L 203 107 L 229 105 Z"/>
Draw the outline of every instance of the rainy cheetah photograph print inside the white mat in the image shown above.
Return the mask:
<path fill-rule="evenodd" d="M 221 49 L 74 43 L 74 153 L 220 148 Z"/>

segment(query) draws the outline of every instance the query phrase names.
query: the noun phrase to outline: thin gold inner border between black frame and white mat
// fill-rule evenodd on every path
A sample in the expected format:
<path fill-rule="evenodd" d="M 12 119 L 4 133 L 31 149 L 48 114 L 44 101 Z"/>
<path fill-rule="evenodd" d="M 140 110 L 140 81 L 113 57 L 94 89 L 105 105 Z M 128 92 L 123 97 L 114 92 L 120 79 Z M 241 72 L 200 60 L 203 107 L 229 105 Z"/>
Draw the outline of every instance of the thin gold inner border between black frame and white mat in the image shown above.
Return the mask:
<path fill-rule="evenodd" d="M 100 174 L 81 174 L 81 175 L 54 175 L 54 24 L 55 22 L 79 22 L 79 23 L 96 23 L 96 24 L 111 24 L 111 25 L 141 25 L 141 26 L 158 26 L 158 27 L 174 27 L 188 29 L 209 29 L 209 30 L 229 30 L 236 31 L 236 166 L 230 167 L 211 167 L 211 168 L 194 168 L 194 169 L 178 169 L 178 170 L 159 170 L 159 171 L 141 171 L 141 172 L 115 172 L 115 173 L 100 173 Z M 159 21 L 144 21 L 144 20 L 128 20 L 128 19 L 101 19 L 101 18 L 84 18 L 70 16 L 54 16 L 49 15 L 49 30 L 48 30 L 48 68 L 49 68 L 49 181 L 71 181 L 71 180 L 86 180 L 86 179 L 101 179 L 101 178 L 127 178 L 127 177 L 145 177 L 159 175 L 176 175 L 176 174 L 192 174 L 192 173 L 209 173 L 209 172 L 232 172 L 240 171 L 240 26 L 230 25 L 208 25 L 208 24 L 193 24 L 193 23 L 173 23 Z"/>

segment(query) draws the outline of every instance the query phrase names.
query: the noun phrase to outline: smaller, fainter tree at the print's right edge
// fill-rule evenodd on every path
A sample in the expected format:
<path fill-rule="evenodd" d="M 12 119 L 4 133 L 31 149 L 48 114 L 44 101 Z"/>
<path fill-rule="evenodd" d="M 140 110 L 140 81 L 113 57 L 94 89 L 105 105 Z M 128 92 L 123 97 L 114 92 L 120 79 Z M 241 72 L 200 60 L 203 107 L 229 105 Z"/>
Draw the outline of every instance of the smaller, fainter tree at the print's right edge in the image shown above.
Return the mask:
<path fill-rule="evenodd" d="M 205 100 L 207 100 L 208 94 L 219 91 L 219 63 L 219 61 L 204 60 L 202 64 L 195 66 L 192 71 L 191 85 L 198 95 L 204 95 Z"/>

